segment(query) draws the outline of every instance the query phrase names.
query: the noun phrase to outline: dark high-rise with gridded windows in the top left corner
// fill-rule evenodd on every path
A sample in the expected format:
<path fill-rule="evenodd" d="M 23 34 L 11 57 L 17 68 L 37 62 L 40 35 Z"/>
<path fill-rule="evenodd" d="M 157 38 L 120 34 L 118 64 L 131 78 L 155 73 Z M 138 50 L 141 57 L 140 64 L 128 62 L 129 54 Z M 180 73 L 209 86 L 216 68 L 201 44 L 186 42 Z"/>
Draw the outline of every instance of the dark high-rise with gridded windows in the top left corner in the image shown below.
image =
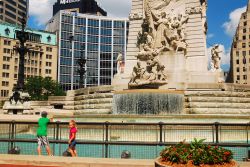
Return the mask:
<path fill-rule="evenodd" d="M 23 15 L 27 16 L 29 0 L 0 0 L 0 21 L 21 25 Z"/>

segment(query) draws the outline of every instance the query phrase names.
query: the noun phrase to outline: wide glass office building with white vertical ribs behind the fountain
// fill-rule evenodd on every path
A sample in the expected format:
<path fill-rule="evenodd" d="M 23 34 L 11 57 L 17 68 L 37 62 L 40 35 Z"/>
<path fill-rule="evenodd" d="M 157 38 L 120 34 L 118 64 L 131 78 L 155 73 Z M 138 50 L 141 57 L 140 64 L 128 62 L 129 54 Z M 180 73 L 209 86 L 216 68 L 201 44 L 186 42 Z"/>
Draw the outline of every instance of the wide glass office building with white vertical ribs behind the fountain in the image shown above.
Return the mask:
<path fill-rule="evenodd" d="M 59 34 L 58 82 L 64 90 L 79 88 L 81 56 L 87 60 L 85 87 L 111 84 L 118 53 L 126 56 L 127 19 L 60 11 L 46 29 Z"/>

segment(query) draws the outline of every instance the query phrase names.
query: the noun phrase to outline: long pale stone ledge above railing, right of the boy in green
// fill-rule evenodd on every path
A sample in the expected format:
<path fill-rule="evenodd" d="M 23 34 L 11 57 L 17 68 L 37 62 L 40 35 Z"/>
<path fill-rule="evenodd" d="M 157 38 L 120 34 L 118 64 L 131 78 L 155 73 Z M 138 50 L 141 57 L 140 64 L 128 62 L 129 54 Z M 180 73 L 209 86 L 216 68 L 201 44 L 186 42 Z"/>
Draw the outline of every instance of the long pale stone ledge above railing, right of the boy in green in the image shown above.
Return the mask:
<path fill-rule="evenodd" d="M 54 121 L 68 122 L 74 119 L 77 122 L 138 122 L 138 123 L 248 123 L 250 116 L 235 115 L 84 115 L 84 116 L 57 116 Z"/>

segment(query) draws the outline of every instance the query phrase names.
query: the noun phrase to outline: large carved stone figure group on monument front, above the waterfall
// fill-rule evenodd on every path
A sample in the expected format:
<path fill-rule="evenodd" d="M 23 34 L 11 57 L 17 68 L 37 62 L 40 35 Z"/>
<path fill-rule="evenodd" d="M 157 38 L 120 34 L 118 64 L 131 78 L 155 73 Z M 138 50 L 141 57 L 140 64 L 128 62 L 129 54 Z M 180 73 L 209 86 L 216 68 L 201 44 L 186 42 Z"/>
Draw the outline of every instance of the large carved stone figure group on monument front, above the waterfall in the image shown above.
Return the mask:
<path fill-rule="evenodd" d="M 165 66 L 159 62 L 164 51 L 182 51 L 186 55 L 187 43 L 185 28 L 189 16 L 184 12 L 166 9 L 178 0 L 144 0 L 142 24 L 137 64 L 129 86 L 167 84 Z"/>

